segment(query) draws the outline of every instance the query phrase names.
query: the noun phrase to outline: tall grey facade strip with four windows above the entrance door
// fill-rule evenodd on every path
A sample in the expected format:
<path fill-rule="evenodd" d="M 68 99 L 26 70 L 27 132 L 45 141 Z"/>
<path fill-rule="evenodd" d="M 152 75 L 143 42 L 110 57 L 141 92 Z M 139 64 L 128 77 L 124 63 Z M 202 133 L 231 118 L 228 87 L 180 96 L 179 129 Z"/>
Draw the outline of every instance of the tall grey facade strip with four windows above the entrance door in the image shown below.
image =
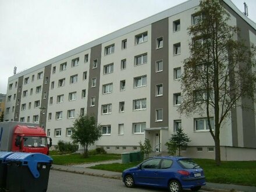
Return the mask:
<path fill-rule="evenodd" d="M 150 127 L 168 127 L 168 87 L 169 87 L 169 59 L 168 59 L 168 18 L 152 23 L 151 34 L 151 112 Z M 163 40 L 162 48 L 157 48 L 159 38 Z M 162 72 L 156 72 L 156 62 L 163 61 Z M 156 97 L 157 85 L 162 84 L 163 94 Z M 156 121 L 156 109 L 163 110 L 163 120 Z"/>

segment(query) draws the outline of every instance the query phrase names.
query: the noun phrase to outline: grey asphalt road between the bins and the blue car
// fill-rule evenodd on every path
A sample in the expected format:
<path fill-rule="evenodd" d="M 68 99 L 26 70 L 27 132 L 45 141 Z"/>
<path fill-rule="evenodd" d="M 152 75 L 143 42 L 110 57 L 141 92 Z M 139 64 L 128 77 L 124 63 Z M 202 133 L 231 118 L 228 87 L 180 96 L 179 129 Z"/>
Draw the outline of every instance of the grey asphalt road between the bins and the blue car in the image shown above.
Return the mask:
<path fill-rule="evenodd" d="M 50 170 L 48 192 L 85 192 L 85 191 L 104 191 L 104 192 L 144 192 L 144 191 L 168 191 L 167 189 L 152 189 L 149 187 L 136 187 L 129 189 L 118 179 L 108 179 L 105 177 L 96 177 L 81 175 L 77 173 L 61 172 Z M 190 191 L 190 190 L 188 190 Z M 187 190 L 186 190 L 187 192 Z M 209 192 L 209 191 L 208 191 Z"/>

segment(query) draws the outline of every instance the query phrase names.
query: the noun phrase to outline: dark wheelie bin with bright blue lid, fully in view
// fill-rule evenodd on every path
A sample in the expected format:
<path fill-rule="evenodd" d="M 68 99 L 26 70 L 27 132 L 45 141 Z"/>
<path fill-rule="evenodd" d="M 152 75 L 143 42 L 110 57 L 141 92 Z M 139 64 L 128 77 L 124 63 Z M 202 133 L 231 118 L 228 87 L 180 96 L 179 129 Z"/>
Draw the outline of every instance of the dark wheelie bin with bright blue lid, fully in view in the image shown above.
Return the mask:
<path fill-rule="evenodd" d="M 7 163 L 6 190 L 10 192 L 47 191 L 52 158 L 40 153 L 15 152 Z"/>

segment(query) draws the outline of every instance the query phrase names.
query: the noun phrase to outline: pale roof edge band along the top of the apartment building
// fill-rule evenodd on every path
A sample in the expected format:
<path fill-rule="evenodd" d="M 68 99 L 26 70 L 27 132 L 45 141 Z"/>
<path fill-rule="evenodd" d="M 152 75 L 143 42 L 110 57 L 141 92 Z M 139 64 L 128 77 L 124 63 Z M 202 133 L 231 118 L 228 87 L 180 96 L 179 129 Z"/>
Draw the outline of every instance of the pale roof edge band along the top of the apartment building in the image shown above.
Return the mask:
<path fill-rule="evenodd" d="M 230 0 L 223 0 L 231 9 L 234 10 L 240 17 L 242 17 L 248 24 L 250 24 L 251 27 L 253 27 L 256 30 L 256 24 L 248 19 Z M 30 69 L 23 70 L 20 73 L 14 74 L 13 76 L 9 77 L 9 81 L 15 80 L 18 77 L 21 77 L 25 74 L 32 73 L 35 70 L 41 69 L 45 66 L 51 65 L 52 63 L 56 63 L 58 61 L 61 61 L 65 58 L 68 58 L 69 56 L 79 54 L 80 52 L 86 51 L 87 49 L 90 49 L 91 47 L 94 47 L 96 45 L 102 44 L 104 42 L 113 40 L 115 38 L 118 38 L 122 35 L 125 35 L 127 33 L 130 33 L 132 31 L 141 29 L 145 26 L 148 26 L 154 22 L 157 22 L 158 20 L 165 19 L 166 17 L 170 17 L 173 15 L 176 15 L 178 13 L 184 12 L 188 9 L 195 8 L 199 5 L 200 0 L 189 0 L 183 3 L 180 3 L 179 5 L 173 6 L 172 8 L 163 10 L 160 13 L 157 13 L 155 15 L 152 15 L 150 17 L 147 17 L 146 19 L 140 20 L 139 22 L 130 24 L 129 26 L 123 27 L 122 29 L 119 29 L 117 31 L 114 31 L 113 33 L 107 34 L 103 37 L 98 38 L 97 40 L 88 42 L 87 44 L 81 45 L 80 47 L 74 48 L 70 51 L 65 52 L 64 54 L 58 55 L 55 58 L 49 59 L 48 61 L 42 62 L 38 65 L 35 65 L 31 67 Z"/>

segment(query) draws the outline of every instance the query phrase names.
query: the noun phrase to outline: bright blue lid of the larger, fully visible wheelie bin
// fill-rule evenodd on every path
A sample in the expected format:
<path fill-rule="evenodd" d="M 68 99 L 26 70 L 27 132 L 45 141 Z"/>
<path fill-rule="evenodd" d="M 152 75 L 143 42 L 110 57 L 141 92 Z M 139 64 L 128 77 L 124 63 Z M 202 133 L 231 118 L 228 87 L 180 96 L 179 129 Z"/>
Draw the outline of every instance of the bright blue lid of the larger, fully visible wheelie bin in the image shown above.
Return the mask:
<path fill-rule="evenodd" d="M 52 163 L 52 158 L 41 153 L 13 152 L 5 159 L 6 162 L 21 162 L 22 166 L 28 166 L 35 178 L 40 176 L 37 170 L 37 163 Z"/>

